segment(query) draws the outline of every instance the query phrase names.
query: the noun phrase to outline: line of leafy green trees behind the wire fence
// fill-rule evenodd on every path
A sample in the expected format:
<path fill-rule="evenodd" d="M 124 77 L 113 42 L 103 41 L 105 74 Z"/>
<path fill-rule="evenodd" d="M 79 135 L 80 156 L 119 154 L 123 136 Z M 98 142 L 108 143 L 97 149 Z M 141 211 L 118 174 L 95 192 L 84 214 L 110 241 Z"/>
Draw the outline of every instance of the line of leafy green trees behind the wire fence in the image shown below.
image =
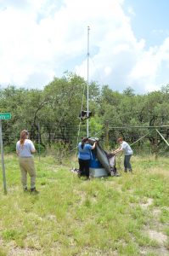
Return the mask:
<path fill-rule="evenodd" d="M 144 95 L 131 87 L 121 93 L 108 84 L 100 88 L 97 82 L 88 84 L 88 89 L 90 137 L 99 137 L 105 148 L 113 148 L 119 136 L 134 143 L 147 134 L 134 145 L 138 151 L 147 147 L 154 152 L 157 146 L 167 151 L 162 137 L 148 126 L 161 126 L 158 131 L 168 140 L 169 126 L 164 125 L 169 125 L 169 84 Z M 87 110 L 87 82 L 75 73 L 54 78 L 42 90 L 8 85 L 0 89 L 0 112 L 12 114 L 12 119 L 3 120 L 3 143 L 14 148 L 20 131 L 27 129 L 39 147 L 72 150 L 87 135 L 87 121 L 79 118 L 82 110 Z"/>

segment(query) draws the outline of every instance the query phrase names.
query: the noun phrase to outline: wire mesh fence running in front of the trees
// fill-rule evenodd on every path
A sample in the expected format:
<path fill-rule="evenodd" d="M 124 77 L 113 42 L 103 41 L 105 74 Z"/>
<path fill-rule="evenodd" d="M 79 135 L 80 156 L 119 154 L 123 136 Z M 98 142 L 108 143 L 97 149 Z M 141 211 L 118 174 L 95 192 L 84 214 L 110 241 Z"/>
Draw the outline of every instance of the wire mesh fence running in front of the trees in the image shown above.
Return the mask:
<path fill-rule="evenodd" d="M 54 157 L 61 163 L 65 157 L 76 154 L 76 144 L 81 141 L 86 130 L 84 127 L 78 133 L 79 127 L 70 127 L 63 125 L 60 130 L 57 124 L 37 123 L 34 124 L 20 124 L 20 129 L 17 130 L 6 129 L 5 123 L 3 124 L 3 145 L 5 153 L 14 153 L 15 144 L 20 139 L 20 131 L 26 129 L 30 132 L 30 138 L 35 143 L 37 154 L 39 156 L 46 156 L 48 154 Z M 121 127 L 122 128 L 122 127 Z M 132 145 L 134 154 L 148 155 L 156 154 L 156 156 L 168 156 L 169 147 L 161 136 L 155 131 L 147 132 L 146 130 L 130 129 L 123 130 L 121 128 L 107 128 L 100 131 L 96 137 L 99 137 L 99 143 L 104 150 L 110 151 L 117 148 L 119 145 L 116 143 L 118 137 L 123 137 L 127 143 Z M 93 137 L 95 135 L 93 134 Z"/>

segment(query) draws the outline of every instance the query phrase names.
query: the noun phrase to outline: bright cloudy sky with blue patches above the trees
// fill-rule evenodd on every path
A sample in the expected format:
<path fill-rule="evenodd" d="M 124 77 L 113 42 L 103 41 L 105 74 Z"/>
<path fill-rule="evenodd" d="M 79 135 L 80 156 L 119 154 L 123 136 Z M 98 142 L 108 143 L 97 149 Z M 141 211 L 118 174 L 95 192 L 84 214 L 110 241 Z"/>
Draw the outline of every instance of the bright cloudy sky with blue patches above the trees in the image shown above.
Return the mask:
<path fill-rule="evenodd" d="M 65 71 L 136 93 L 169 83 L 168 0 L 0 0 L 0 84 L 43 88 Z"/>

